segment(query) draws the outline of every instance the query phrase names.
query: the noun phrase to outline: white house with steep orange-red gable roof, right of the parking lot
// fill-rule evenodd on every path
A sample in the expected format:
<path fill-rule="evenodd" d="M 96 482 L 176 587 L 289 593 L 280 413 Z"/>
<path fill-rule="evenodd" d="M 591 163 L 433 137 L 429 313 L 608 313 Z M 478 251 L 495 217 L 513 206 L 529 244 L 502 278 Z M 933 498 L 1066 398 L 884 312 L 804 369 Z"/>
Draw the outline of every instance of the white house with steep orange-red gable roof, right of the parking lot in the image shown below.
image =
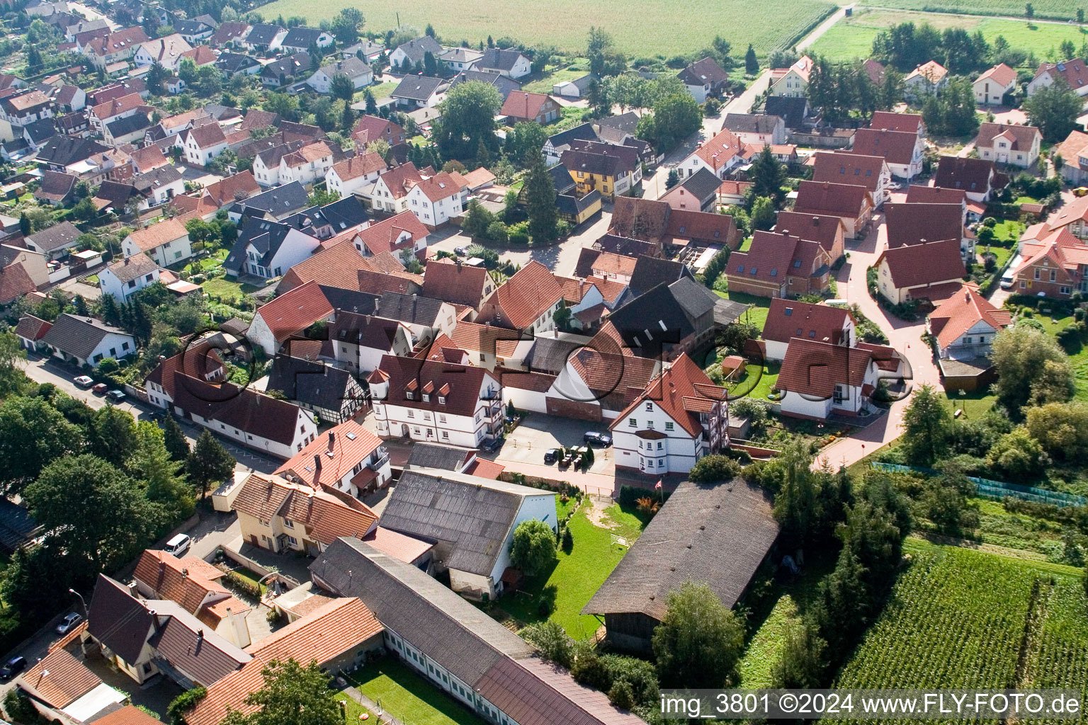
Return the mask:
<path fill-rule="evenodd" d="M 608 426 L 617 468 L 650 476 L 688 473 L 729 445 L 727 392 L 685 353 Z"/>

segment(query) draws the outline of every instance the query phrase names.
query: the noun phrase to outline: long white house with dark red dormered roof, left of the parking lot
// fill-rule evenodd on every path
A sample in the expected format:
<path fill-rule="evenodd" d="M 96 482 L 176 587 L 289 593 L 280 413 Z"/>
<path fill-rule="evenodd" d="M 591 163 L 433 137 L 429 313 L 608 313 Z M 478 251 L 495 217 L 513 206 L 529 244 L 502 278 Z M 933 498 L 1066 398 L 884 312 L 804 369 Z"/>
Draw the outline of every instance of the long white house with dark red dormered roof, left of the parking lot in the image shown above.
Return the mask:
<path fill-rule="evenodd" d="M 503 434 L 503 384 L 482 367 L 385 355 L 367 382 L 382 438 L 479 448 Z"/>

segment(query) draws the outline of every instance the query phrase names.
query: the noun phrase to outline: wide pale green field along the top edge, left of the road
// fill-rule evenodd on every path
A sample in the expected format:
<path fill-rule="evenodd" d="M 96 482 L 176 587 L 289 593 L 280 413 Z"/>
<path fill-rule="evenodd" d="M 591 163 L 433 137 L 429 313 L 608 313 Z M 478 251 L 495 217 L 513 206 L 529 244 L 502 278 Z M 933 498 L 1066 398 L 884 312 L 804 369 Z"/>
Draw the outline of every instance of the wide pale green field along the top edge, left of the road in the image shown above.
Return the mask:
<path fill-rule="evenodd" d="M 349 0 L 319 3 L 276 0 L 260 7 L 258 12 L 265 18 L 299 15 L 317 27 L 319 22 L 332 20 L 341 9 L 356 4 Z M 479 0 L 457 5 L 456 12 L 450 12 L 449 3 L 442 0 L 407 0 L 369 4 L 363 14 L 368 30 L 395 28 L 399 16 L 401 24 L 420 30 L 428 23 L 433 24 L 438 35 L 452 45 L 461 39 L 477 45 L 489 35 L 509 36 L 527 45 L 554 45 L 568 52 L 584 50 L 590 26 L 599 25 L 611 34 L 620 50 L 633 58 L 692 53 L 709 47 L 714 36 L 720 34 L 732 42 L 738 58 L 743 58 L 750 42 L 759 55 L 789 48 L 832 9 L 830 3 L 817 0 L 780 0 L 775 3 L 774 12 L 755 13 L 746 0 L 700 0 L 683 7 L 668 0 L 646 0 L 638 8 L 621 0 L 601 0 L 588 13 L 585 4 L 576 0 Z M 698 20 L 684 22 L 683 15 Z"/>

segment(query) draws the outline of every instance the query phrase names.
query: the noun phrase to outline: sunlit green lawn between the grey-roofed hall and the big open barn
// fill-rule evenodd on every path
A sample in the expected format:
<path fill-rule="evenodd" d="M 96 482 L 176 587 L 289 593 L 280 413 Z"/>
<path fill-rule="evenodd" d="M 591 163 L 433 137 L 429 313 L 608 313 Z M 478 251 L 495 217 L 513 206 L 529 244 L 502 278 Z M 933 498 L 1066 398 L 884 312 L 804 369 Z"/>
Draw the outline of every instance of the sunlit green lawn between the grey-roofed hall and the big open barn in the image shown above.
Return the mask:
<path fill-rule="evenodd" d="M 583 503 L 567 524 L 574 537 L 570 553 L 560 550 L 555 567 L 546 576 L 528 579 L 523 591 L 504 595 L 498 600 L 503 611 L 519 622 L 532 624 L 542 620 L 537 610 L 541 598 L 554 598 L 555 607 L 547 618 L 562 625 L 568 635 L 586 639 L 597 630 L 601 622 L 580 612 L 627 553 L 627 549 L 611 542 L 611 534 L 633 542 L 644 523 L 614 503 L 605 511 L 602 523 L 609 528 L 604 528 L 590 521 L 589 509 L 589 502 Z"/>

